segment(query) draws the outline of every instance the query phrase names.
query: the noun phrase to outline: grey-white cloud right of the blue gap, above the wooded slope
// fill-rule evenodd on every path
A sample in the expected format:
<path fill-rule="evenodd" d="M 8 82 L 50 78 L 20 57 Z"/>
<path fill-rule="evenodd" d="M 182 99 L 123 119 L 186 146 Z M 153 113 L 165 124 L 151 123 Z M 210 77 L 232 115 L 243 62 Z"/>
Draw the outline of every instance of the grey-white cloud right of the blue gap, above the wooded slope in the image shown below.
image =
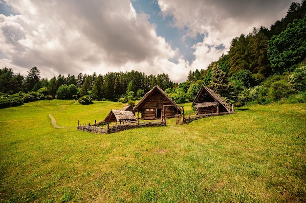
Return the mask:
<path fill-rule="evenodd" d="M 253 27 L 270 27 L 283 18 L 291 2 L 287 0 L 158 0 L 164 16 L 174 18 L 174 26 L 187 28 L 186 36 L 204 34 L 193 45 L 195 60 L 191 70 L 206 68 L 229 50 L 230 42 Z M 216 49 L 220 45 L 224 49 Z"/>

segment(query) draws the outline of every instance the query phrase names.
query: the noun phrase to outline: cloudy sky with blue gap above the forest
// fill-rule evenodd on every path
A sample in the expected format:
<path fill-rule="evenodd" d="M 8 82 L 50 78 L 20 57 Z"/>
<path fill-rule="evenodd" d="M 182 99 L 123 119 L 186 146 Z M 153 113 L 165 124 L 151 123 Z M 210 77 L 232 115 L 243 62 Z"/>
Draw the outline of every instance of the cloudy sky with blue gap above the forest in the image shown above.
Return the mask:
<path fill-rule="evenodd" d="M 301 2 L 301 0 L 295 0 Z M 41 76 L 139 71 L 186 80 L 291 0 L 0 0 L 0 68 Z"/>

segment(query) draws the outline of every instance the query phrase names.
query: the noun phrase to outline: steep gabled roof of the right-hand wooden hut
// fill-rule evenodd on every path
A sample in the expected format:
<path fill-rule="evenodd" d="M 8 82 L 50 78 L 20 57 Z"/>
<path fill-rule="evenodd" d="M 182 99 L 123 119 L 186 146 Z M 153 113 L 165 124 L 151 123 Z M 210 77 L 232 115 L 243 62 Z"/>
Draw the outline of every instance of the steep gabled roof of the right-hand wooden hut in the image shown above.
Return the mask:
<path fill-rule="evenodd" d="M 226 111 L 228 111 L 228 112 L 231 111 L 230 106 L 218 94 L 216 94 L 213 90 L 205 87 L 204 85 L 197 92 L 197 96 L 196 96 L 194 102 L 192 103 L 194 106 L 199 105 L 199 104 L 203 104 L 204 105 L 204 103 L 206 103 L 206 102 L 200 102 L 200 98 L 203 96 L 203 94 L 205 92 L 207 92 L 215 101 L 218 101 L 219 104 L 221 104 L 224 107 L 224 109 L 226 109 Z M 200 107 L 200 106 L 198 106 L 198 107 Z"/>

